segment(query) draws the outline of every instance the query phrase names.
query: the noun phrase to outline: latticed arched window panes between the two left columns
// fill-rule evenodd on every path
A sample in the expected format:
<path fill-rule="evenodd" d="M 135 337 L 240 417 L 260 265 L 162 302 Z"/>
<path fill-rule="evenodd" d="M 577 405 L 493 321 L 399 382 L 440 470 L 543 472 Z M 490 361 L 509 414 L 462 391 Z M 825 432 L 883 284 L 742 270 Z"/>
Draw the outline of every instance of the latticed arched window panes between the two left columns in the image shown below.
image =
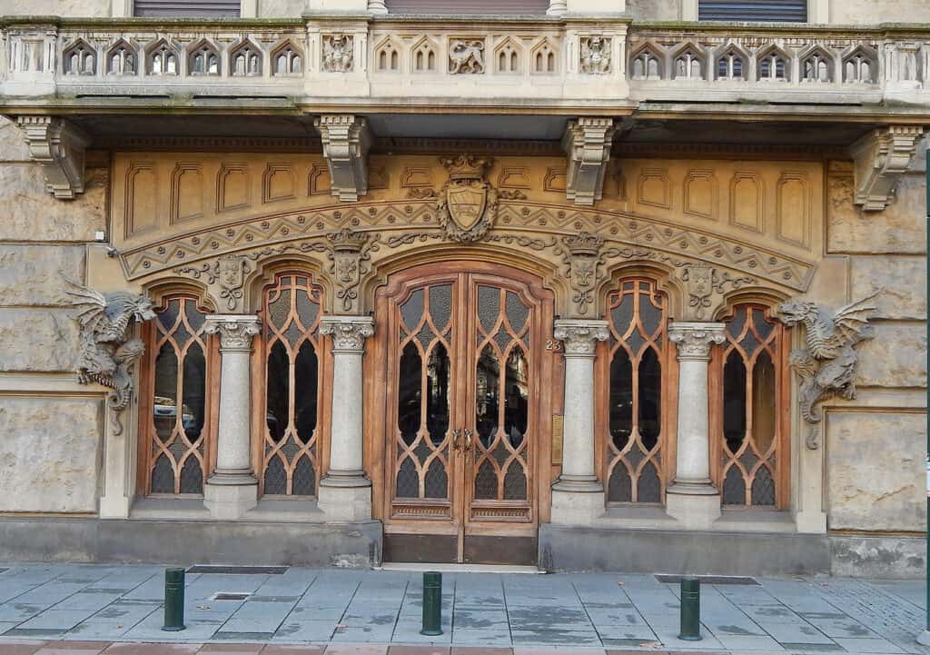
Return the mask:
<path fill-rule="evenodd" d="M 310 274 L 278 274 L 265 288 L 265 421 L 259 474 L 265 495 L 316 495 L 322 295 Z"/>

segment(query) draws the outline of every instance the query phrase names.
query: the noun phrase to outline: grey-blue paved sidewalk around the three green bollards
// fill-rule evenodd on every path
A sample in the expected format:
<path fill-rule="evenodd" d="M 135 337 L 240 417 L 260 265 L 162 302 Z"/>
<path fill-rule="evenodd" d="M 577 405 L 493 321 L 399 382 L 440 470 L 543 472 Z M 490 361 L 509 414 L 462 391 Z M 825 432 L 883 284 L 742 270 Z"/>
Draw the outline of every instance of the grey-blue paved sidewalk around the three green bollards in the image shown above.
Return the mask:
<path fill-rule="evenodd" d="M 331 644 L 327 655 L 383 655 L 389 645 L 443 647 L 393 648 L 392 655 L 447 655 L 450 647 L 459 646 L 505 648 L 498 652 L 513 648 L 517 653 L 560 647 L 590 648 L 589 653 L 607 649 L 930 655 L 930 649 L 914 640 L 923 627 L 923 581 L 705 583 L 704 639 L 690 642 L 677 638 L 678 585 L 646 575 L 445 573 L 445 633 L 426 637 L 419 635 L 421 577 L 413 572 L 287 568 L 282 574 L 189 573 L 188 629 L 166 633 L 160 630 L 164 568 L 8 564 L 0 565 L 0 571 L 0 655 L 86 654 L 94 648 L 107 655 L 193 653 L 202 644 L 208 645 L 202 652 L 214 653 L 224 651 L 219 645 L 233 652 L 233 644 L 253 644 L 235 652 L 258 653 L 264 645 Z M 218 594 L 246 597 L 219 600 Z M 43 646 L 46 640 L 70 642 L 73 647 Z M 75 650 L 84 646 L 77 642 L 94 643 Z M 138 644 L 111 647 L 110 642 L 185 647 L 140 650 Z M 368 646 L 347 649 L 349 645 Z"/>

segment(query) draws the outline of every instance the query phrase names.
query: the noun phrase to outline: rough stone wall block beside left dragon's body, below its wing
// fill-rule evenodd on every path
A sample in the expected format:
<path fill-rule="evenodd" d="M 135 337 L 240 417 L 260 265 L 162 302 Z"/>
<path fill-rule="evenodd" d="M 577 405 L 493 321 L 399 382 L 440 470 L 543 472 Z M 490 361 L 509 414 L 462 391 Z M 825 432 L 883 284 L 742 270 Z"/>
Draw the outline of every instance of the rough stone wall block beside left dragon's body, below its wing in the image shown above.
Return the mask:
<path fill-rule="evenodd" d="M 0 343 L 0 371 L 73 372 L 79 345 L 77 323 L 64 309 L 4 309 L 0 311 Z M 56 421 L 56 425 L 60 428 L 63 422 Z"/>

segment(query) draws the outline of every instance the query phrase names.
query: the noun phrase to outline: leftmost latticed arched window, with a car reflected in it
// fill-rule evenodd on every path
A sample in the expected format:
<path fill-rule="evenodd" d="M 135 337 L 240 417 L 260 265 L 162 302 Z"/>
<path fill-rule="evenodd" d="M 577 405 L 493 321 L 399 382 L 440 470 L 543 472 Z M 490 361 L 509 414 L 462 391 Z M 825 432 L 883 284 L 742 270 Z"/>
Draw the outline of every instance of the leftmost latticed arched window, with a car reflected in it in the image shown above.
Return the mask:
<path fill-rule="evenodd" d="M 143 494 L 202 494 L 207 473 L 210 352 L 208 310 L 174 295 L 146 326 L 147 366 L 140 404 Z"/>

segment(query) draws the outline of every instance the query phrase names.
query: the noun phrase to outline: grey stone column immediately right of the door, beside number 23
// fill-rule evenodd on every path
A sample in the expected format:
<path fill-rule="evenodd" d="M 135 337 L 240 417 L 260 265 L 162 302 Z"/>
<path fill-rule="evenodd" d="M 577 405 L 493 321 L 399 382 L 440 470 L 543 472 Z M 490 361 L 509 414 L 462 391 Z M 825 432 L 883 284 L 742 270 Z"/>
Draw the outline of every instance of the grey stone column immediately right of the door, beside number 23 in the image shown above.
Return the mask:
<path fill-rule="evenodd" d="M 602 320 L 555 321 L 552 336 L 565 353 L 562 474 L 552 485 L 555 524 L 590 525 L 604 514 L 604 485 L 594 470 L 594 349 L 609 334 Z"/>

